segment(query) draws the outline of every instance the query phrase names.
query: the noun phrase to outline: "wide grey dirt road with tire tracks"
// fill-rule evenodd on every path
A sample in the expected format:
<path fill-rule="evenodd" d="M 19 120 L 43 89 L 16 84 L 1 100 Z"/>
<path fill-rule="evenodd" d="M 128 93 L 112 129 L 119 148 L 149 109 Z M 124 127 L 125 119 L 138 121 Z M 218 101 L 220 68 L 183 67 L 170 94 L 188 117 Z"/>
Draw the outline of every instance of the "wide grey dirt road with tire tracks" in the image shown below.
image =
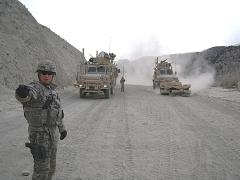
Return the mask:
<path fill-rule="evenodd" d="M 59 142 L 57 180 L 240 179 L 240 103 L 202 95 L 161 96 L 117 87 L 110 99 L 63 94 L 68 137 Z M 0 111 L 0 179 L 25 180 L 21 106 Z"/>

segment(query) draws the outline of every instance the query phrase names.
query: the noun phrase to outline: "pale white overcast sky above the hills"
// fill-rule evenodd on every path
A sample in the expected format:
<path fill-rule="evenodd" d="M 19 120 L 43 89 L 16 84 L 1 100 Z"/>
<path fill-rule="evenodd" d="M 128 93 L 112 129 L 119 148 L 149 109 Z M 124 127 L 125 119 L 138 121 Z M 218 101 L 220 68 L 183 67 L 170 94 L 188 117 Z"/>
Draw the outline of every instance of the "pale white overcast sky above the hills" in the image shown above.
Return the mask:
<path fill-rule="evenodd" d="M 239 0 L 20 0 L 86 56 L 117 59 L 240 43 Z"/>

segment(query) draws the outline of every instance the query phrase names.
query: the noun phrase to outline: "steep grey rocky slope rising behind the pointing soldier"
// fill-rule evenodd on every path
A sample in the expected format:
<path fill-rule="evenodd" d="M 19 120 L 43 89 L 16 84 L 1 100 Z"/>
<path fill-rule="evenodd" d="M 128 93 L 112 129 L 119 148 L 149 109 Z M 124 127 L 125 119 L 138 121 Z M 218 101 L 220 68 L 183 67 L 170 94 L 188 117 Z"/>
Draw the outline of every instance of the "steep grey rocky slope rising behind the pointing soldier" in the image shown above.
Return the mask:
<path fill-rule="evenodd" d="M 70 85 L 83 54 L 40 25 L 17 0 L 0 0 L 0 87 L 16 88 L 36 79 L 39 61 L 50 59 L 57 65 L 56 83 Z"/>

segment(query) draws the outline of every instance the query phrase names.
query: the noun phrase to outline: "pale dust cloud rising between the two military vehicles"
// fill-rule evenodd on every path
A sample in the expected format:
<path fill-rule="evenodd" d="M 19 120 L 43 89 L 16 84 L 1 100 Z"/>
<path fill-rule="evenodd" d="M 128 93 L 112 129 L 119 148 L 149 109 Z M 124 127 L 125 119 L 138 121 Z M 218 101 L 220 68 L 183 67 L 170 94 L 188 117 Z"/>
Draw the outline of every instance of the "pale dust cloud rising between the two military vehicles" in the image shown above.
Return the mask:
<path fill-rule="evenodd" d="M 127 54 L 130 59 L 117 62 L 121 76 L 126 84 L 152 86 L 152 75 L 155 57 L 161 54 L 161 44 L 152 36 L 133 42 L 131 51 Z"/>

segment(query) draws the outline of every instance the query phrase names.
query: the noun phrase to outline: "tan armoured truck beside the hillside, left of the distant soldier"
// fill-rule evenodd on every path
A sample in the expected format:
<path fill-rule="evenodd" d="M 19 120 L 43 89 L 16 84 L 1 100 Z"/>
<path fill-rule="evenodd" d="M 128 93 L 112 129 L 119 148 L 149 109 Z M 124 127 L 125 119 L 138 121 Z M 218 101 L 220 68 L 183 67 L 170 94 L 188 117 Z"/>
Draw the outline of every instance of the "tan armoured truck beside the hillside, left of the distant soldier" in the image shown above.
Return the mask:
<path fill-rule="evenodd" d="M 115 57 L 113 53 L 102 51 L 78 67 L 74 86 L 79 88 L 80 98 L 88 94 L 102 94 L 109 98 L 113 94 L 119 73 L 113 62 Z"/>

